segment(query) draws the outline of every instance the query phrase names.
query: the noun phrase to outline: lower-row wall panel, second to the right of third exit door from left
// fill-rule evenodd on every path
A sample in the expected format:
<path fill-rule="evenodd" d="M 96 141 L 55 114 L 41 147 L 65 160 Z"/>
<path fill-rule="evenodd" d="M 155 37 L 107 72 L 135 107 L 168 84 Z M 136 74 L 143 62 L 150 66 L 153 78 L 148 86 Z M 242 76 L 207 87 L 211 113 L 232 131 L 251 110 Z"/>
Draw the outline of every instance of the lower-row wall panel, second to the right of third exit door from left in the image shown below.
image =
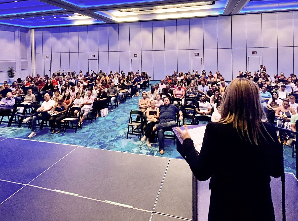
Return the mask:
<path fill-rule="evenodd" d="M 149 74 L 150 75 L 150 74 Z M 164 51 L 153 51 L 153 75 L 152 79 L 165 78 Z"/>

